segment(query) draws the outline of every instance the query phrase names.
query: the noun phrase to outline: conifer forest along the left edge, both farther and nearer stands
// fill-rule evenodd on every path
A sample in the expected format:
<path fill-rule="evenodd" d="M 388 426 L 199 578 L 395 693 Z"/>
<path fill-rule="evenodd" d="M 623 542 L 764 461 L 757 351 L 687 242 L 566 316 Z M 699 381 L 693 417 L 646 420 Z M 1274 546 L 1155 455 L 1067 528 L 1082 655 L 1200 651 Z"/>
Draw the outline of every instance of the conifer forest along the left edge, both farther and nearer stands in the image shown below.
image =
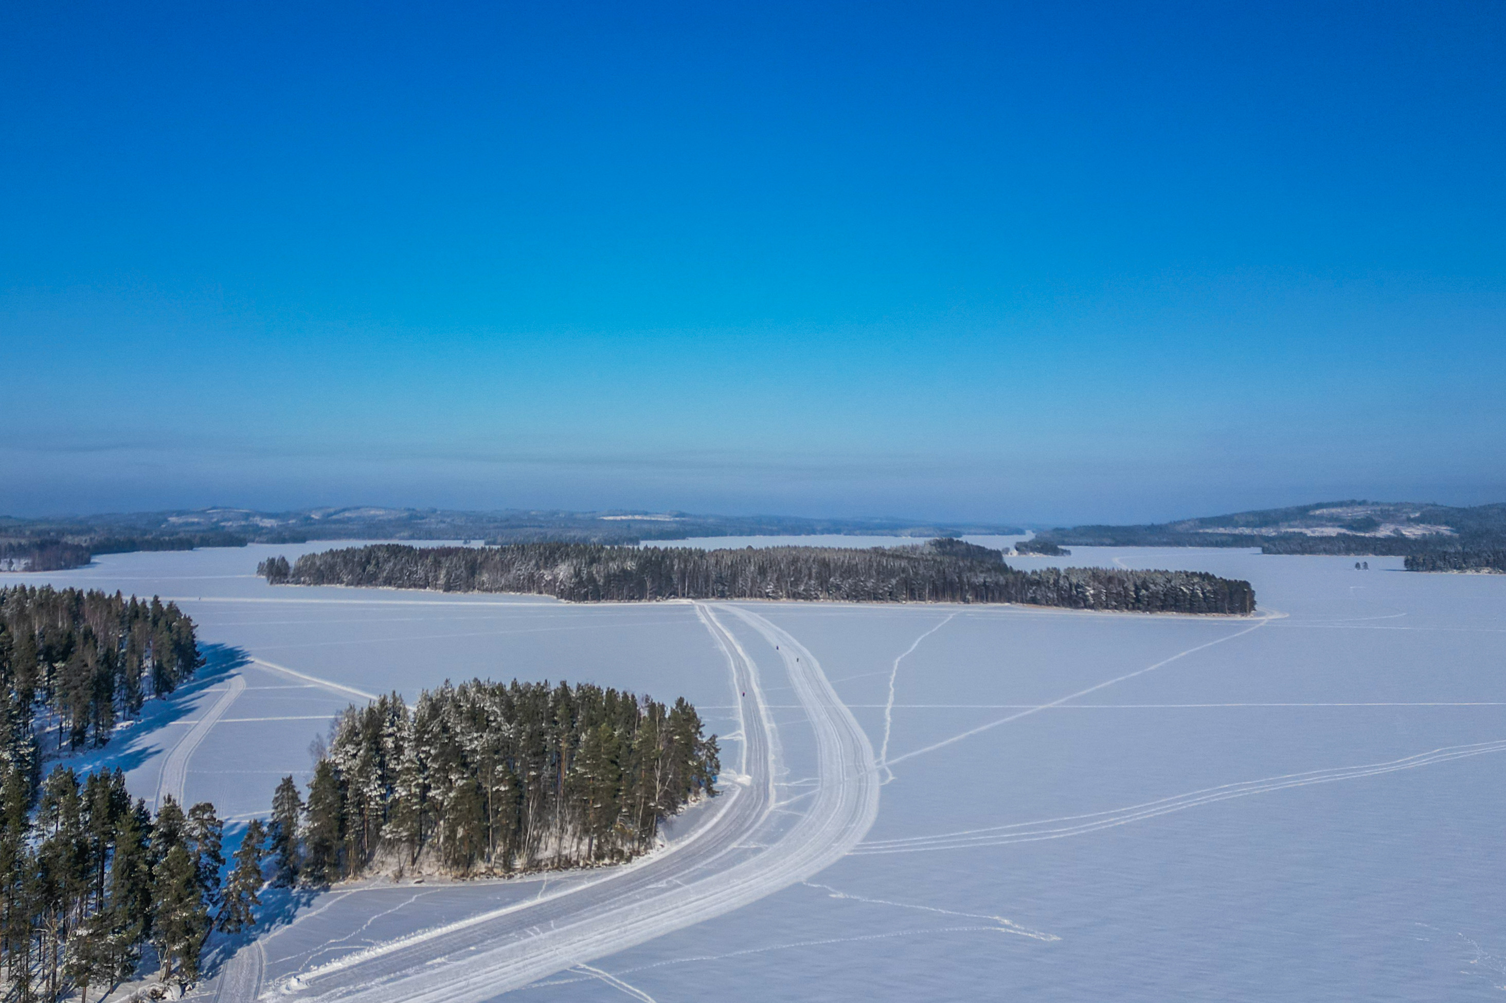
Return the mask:
<path fill-rule="evenodd" d="M 221 895 L 214 806 L 131 804 L 119 770 L 41 779 L 42 750 L 104 745 L 120 717 L 166 696 L 199 658 L 175 605 L 120 595 L 0 589 L 0 970 L 5 998 L 101 992 L 151 947 L 166 979 L 197 977 L 217 905 L 245 913 L 259 883 Z M 244 852 L 252 854 L 255 846 Z M 261 873 L 256 861 L 258 876 Z M 233 913 L 235 910 L 232 910 Z M 226 928 L 236 922 L 221 910 Z"/>

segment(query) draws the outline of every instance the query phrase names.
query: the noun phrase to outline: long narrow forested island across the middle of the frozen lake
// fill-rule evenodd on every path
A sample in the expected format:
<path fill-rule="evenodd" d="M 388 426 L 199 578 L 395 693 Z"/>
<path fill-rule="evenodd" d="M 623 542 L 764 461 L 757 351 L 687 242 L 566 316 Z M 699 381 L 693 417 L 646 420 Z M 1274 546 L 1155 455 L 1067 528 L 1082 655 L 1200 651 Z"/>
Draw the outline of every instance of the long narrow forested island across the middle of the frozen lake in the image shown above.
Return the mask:
<path fill-rule="evenodd" d="M 836 599 L 1029 602 L 1078 610 L 1253 613 L 1254 589 L 1193 571 L 1017 571 L 997 550 L 955 539 L 917 547 L 691 550 L 515 544 L 376 544 L 262 562 L 273 584 L 524 592 L 577 602 L 643 599 Z"/>

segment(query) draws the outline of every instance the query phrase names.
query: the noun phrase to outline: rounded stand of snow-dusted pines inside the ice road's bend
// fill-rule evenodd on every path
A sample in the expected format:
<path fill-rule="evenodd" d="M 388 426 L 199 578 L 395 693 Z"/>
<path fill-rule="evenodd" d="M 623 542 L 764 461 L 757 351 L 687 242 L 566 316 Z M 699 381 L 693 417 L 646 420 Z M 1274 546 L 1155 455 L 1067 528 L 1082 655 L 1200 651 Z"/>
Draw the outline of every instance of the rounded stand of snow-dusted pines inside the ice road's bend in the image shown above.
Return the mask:
<path fill-rule="evenodd" d="M 715 736 L 684 699 L 666 708 L 595 685 L 473 681 L 410 709 L 349 708 L 304 801 L 273 798 L 285 883 L 372 869 L 509 873 L 631 860 L 660 822 L 715 794 Z"/>

